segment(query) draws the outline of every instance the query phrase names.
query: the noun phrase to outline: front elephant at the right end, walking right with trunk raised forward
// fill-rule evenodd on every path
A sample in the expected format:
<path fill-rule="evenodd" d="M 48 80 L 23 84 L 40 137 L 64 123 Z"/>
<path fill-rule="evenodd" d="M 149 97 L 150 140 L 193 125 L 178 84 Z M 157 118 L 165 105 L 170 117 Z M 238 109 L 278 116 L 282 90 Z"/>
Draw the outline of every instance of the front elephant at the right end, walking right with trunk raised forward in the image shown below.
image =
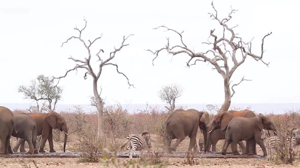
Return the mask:
<path fill-rule="evenodd" d="M 249 144 L 249 154 L 253 154 L 252 147 L 255 142 L 261 147 L 263 151 L 263 156 L 266 156 L 266 149 L 261 138 L 261 130 L 272 130 L 274 134 L 276 133 L 276 127 L 273 122 L 268 117 L 263 114 L 252 118 L 245 117 L 234 117 L 231 119 L 226 130 L 226 141 L 222 150 L 222 154 L 226 155 L 227 148 L 230 143 L 232 143 L 232 153 L 234 155 L 239 155 L 237 152 L 236 144 L 238 141 L 246 140 Z M 251 150 L 252 149 L 252 150 Z"/>

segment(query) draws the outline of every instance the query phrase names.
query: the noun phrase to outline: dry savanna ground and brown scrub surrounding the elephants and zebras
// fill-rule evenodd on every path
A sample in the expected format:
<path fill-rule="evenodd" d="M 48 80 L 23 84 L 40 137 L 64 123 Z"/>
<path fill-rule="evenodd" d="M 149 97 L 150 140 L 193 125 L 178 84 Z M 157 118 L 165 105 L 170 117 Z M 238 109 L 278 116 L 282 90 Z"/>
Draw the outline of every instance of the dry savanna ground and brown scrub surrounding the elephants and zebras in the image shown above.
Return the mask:
<path fill-rule="evenodd" d="M 240 110 L 240 109 L 236 109 Z M 25 112 L 15 110 L 15 113 Z M 212 111 L 210 111 L 212 112 Z M 154 143 L 152 144 L 153 155 L 143 160 L 134 158 L 112 158 L 112 157 L 89 157 L 84 155 L 80 158 L 0 158 L 0 167 L 299 167 L 300 158 L 295 157 L 292 164 L 284 164 L 280 159 L 267 161 L 260 158 L 194 158 L 194 164 L 188 158 L 155 157 L 156 151 L 165 151 L 162 125 L 168 116 L 164 110 L 149 107 L 144 110 L 128 112 L 120 105 L 107 107 L 105 109 L 105 133 L 107 135 L 104 144 L 96 141 L 97 137 L 97 114 L 85 113 L 76 106 L 69 111 L 60 111 L 65 116 L 69 127 L 69 139 L 66 147 L 67 152 L 95 152 L 95 151 L 118 151 L 118 147 L 125 141 L 128 134 L 149 132 L 152 134 Z M 286 111 L 284 114 L 268 114 L 275 121 L 277 128 L 299 128 L 300 111 Z M 198 132 L 198 138 L 202 136 Z M 64 135 L 53 131 L 54 149 L 57 152 L 63 151 Z M 197 138 L 197 139 L 198 139 Z M 12 146 L 16 143 L 16 138 L 11 139 Z M 221 151 L 224 140 L 220 140 L 217 151 Z M 186 151 L 189 138 L 186 138 L 177 151 Z M 39 143 L 38 143 L 39 145 Z M 27 150 L 28 150 L 28 146 Z M 300 152 L 299 146 L 296 151 Z M 228 149 L 228 152 L 231 149 Z M 262 150 L 257 146 L 258 154 L 262 155 Z M 48 142 L 45 151 L 49 151 Z M 126 149 L 123 149 L 126 151 Z M 299 154 L 297 152 L 296 155 Z"/>

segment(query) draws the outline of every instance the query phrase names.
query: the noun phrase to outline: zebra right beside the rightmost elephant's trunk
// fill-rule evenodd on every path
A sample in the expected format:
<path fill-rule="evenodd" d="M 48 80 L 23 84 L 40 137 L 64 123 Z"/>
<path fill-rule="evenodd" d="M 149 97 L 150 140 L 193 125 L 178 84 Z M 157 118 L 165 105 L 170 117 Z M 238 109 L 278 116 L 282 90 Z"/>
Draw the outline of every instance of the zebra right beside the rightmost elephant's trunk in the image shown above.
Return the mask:
<path fill-rule="evenodd" d="M 279 146 L 280 139 L 278 136 L 270 136 L 269 132 L 262 129 L 261 131 L 261 140 L 263 140 L 264 146 L 267 152 L 267 160 L 272 159 L 272 152 L 275 151 L 276 145 Z"/>

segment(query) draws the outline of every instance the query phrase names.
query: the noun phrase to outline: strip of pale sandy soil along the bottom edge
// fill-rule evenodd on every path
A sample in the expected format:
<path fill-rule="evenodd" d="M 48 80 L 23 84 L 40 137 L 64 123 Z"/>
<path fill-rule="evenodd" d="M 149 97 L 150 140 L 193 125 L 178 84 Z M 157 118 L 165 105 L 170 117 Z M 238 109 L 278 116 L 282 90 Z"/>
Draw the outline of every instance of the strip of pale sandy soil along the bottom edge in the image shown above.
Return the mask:
<path fill-rule="evenodd" d="M 265 159 L 194 159 L 195 165 L 189 165 L 184 158 L 164 158 L 167 162 L 166 167 L 299 167 L 300 159 L 296 159 L 293 165 L 276 164 Z M 128 158 L 118 158 L 118 163 L 110 160 L 99 163 L 78 163 L 79 158 L 0 158 L 0 167 L 126 167 Z M 138 159 L 135 158 L 135 161 Z M 36 165 L 35 165 L 35 163 Z M 142 164 L 140 164 L 142 165 Z M 132 165 L 130 167 L 133 167 Z M 136 167 L 136 164 L 135 166 Z M 146 167 L 155 167 L 147 165 Z"/>

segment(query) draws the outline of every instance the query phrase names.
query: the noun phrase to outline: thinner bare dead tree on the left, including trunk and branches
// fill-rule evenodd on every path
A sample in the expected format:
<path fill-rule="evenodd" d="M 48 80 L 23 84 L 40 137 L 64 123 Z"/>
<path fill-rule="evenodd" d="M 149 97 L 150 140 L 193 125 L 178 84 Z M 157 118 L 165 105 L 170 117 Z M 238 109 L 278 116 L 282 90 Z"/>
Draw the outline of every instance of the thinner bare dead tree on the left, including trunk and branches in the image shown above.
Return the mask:
<path fill-rule="evenodd" d="M 102 56 L 100 56 L 101 52 L 104 53 L 103 49 L 99 49 L 97 54 L 95 55 L 95 58 L 98 59 L 97 61 L 99 61 L 99 65 L 98 65 L 98 72 L 95 71 L 95 67 L 92 68 L 91 66 L 91 58 L 92 58 L 92 54 L 91 54 L 91 48 L 92 45 L 95 44 L 96 41 L 98 41 L 101 37 L 97 37 L 94 40 L 84 40 L 81 37 L 81 34 L 83 32 L 83 30 L 86 28 L 86 24 L 87 21 L 84 19 L 85 25 L 82 29 L 78 29 L 77 27 L 75 27 L 74 29 L 79 33 L 78 36 L 71 36 L 70 38 L 68 38 L 63 44 L 62 47 L 68 43 L 69 40 L 71 39 L 75 39 L 75 40 L 79 40 L 80 43 L 84 46 L 84 48 L 87 51 L 87 57 L 85 57 L 84 59 L 75 59 L 72 56 L 70 56 L 70 60 L 74 61 L 76 63 L 76 65 L 74 66 L 74 68 L 67 70 L 67 72 L 65 73 L 65 75 L 60 76 L 60 77 L 55 77 L 55 79 L 61 79 L 67 76 L 67 74 L 71 71 L 74 71 L 77 69 L 84 69 L 86 72 L 83 76 L 84 79 L 87 78 L 87 75 L 91 75 L 93 78 L 93 91 L 94 91 L 94 97 L 96 99 L 95 105 L 97 105 L 97 111 L 98 111 L 98 132 L 97 132 L 97 138 L 98 140 L 105 138 L 104 135 L 104 126 L 103 126 L 103 100 L 100 97 L 100 94 L 98 92 L 98 80 L 100 78 L 100 75 L 102 73 L 102 70 L 105 66 L 114 66 L 116 68 L 117 73 L 123 75 L 126 79 L 127 79 L 127 83 L 129 85 L 129 88 L 132 86 L 134 87 L 130 82 L 129 82 L 129 78 L 123 73 L 120 72 L 118 69 L 118 65 L 116 63 L 111 63 L 111 60 L 113 58 L 115 58 L 116 53 L 118 53 L 119 51 L 121 51 L 124 47 L 128 46 L 128 44 L 125 44 L 125 41 L 133 34 L 128 35 L 127 37 L 124 36 L 123 37 L 123 41 L 121 43 L 121 46 L 118 48 L 114 48 L 114 50 L 112 52 L 109 53 L 109 57 L 107 59 L 104 59 Z M 96 73 L 95 73 L 96 72 Z M 97 103 L 97 104 L 96 104 Z"/>

